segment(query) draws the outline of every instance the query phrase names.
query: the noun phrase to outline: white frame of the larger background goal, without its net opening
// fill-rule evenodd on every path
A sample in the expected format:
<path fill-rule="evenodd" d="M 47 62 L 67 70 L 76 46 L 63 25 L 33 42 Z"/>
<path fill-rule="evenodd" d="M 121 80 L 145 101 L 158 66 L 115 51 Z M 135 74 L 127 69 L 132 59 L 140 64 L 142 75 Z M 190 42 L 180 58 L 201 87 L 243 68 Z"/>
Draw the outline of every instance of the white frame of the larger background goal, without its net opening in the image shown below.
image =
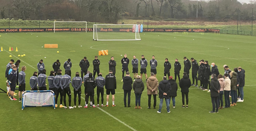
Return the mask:
<path fill-rule="evenodd" d="M 96 29 L 97 26 L 134 26 L 136 27 L 135 29 L 135 39 L 128 39 L 128 40 L 98 40 L 98 36 L 97 36 L 97 30 Z M 138 24 L 93 24 L 93 40 L 95 41 L 141 41 L 141 36 L 139 36 L 139 38 L 136 38 L 136 34 L 138 33 L 139 35 L 139 29 L 138 29 Z M 94 33 L 96 33 L 96 36 L 94 35 Z"/>

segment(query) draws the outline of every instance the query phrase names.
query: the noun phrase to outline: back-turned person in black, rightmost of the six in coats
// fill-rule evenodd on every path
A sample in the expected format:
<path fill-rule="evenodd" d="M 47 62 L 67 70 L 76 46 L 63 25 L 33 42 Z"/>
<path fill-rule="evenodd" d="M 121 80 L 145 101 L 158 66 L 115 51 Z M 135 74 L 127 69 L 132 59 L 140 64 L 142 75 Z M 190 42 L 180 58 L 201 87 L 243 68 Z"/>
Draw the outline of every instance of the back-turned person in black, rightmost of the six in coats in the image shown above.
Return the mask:
<path fill-rule="evenodd" d="M 186 72 L 183 73 L 183 79 L 180 80 L 180 88 L 181 88 L 181 95 L 182 95 L 182 103 L 183 103 L 183 108 L 185 108 L 185 97 L 186 97 L 186 108 L 188 108 L 188 88 L 191 86 L 191 81 L 190 78 L 188 78 L 188 75 Z"/>

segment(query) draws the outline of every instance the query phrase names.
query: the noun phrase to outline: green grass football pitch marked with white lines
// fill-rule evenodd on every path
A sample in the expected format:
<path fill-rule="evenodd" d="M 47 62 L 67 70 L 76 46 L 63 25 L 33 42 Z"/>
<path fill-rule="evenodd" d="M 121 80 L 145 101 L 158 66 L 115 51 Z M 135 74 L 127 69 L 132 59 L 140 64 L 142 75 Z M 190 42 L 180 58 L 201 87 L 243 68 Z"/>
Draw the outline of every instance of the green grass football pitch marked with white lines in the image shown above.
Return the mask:
<path fill-rule="evenodd" d="M 99 56 L 100 72 L 103 76 L 108 73 L 108 61 L 114 56 L 117 61 L 116 77 L 117 90 L 115 94 L 116 107 L 74 108 L 64 109 L 57 107 L 27 107 L 22 111 L 22 103 L 10 101 L 6 93 L 0 93 L 0 130 L 255 130 L 255 40 L 256 37 L 237 36 L 213 33 L 140 33 L 141 41 L 93 41 L 93 33 L 1 33 L 0 47 L 0 87 L 6 90 L 5 69 L 10 59 L 20 59 L 20 70 L 26 66 L 26 90 L 30 90 L 29 79 L 37 71 L 37 63 L 43 59 L 47 76 L 52 70 L 52 63 L 57 59 L 64 70 L 64 62 L 68 58 L 72 62 L 72 77 L 75 72 L 80 73 L 79 62 L 84 56 L 90 62 L 89 70 L 93 71 L 92 61 L 99 50 L 108 49 L 106 56 Z M 58 48 L 43 48 L 44 44 L 58 44 Z M 9 47 L 13 51 L 9 52 Z M 15 52 L 15 49 L 18 52 Z M 59 51 L 59 53 L 57 53 Z M 18 55 L 26 56 L 18 57 Z M 131 107 L 124 107 L 122 90 L 121 59 L 127 54 L 132 72 L 132 56 L 141 59 L 141 55 L 150 61 L 152 55 L 158 62 L 157 79 L 162 80 L 164 59 L 171 63 L 171 76 L 174 76 L 174 59 L 181 63 L 181 76 L 183 73 L 183 57 L 201 59 L 214 62 L 223 75 L 223 65 L 230 69 L 241 66 L 246 70 L 246 86 L 244 86 L 244 102 L 237 102 L 231 108 L 220 109 L 219 114 L 209 114 L 212 110 L 211 96 L 191 86 L 188 108 L 182 108 L 180 89 L 177 91 L 176 108 L 170 104 L 170 114 L 167 114 L 165 102 L 162 114 L 157 114 L 159 98 L 157 96 L 157 109 L 147 109 L 148 95 L 146 88 L 141 98 L 142 109 L 134 109 L 135 95 L 131 93 Z M 12 58 L 9 58 L 12 55 Z M 140 68 L 140 65 L 139 65 Z M 148 76 L 150 66 L 147 67 Z M 190 71 L 191 72 L 191 71 Z M 63 73 L 62 73 L 63 74 Z M 133 78 L 133 74 L 131 74 Z M 192 81 L 192 77 L 190 76 Z M 146 87 L 145 76 L 143 83 Z M 200 83 L 200 82 L 198 82 Z M 48 82 L 47 82 L 48 84 Z M 73 87 L 71 86 L 71 91 Z M 82 85 L 82 102 L 85 104 L 84 86 Z M 180 87 L 178 87 L 180 88 Z M 48 86 L 47 86 L 48 89 Z M 96 93 L 96 88 L 94 89 Z M 17 93 L 17 90 L 15 91 Z M 72 92 L 73 93 L 73 92 Z M 104 90 L 104 104 L 106 104 L 106 90 Z M 18 98 L 17 96 L 15 98 Z M 95 104 L 97 95 L 94 95 Z M 230 98 L 231 100 L 231 98 Z M 78 99 L 77 99 L 78 101 Z M 68 97 L 66 100 L 68 104 Z M 153 102 L 153 98 L 152 98 Z M 171 102 L 172 103 L 172 102 Z M 59 105 L 59 100 L 58 100 Z M 72 104 L 73 106 L 73 94 Z M 110 96 L 111 105 L 111 96 Z"/>

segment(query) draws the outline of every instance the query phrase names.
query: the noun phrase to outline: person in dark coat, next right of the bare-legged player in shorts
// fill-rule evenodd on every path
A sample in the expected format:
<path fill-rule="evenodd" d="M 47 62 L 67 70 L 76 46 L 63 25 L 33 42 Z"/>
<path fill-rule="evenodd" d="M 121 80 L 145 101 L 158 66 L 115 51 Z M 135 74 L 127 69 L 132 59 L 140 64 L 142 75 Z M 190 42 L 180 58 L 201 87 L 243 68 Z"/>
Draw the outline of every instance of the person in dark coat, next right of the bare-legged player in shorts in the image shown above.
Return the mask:
<path fill-rule="evenodd" d="M 124 107 L 127 107 L 126 97 L 128 94 L 128 107 L 131 107 L 131 90 L 132 90 L 132 78 L 130 73 L 126 72 L 126 76 L 123 78 L 124 84 L 122 89 L 124 90 Z"/>

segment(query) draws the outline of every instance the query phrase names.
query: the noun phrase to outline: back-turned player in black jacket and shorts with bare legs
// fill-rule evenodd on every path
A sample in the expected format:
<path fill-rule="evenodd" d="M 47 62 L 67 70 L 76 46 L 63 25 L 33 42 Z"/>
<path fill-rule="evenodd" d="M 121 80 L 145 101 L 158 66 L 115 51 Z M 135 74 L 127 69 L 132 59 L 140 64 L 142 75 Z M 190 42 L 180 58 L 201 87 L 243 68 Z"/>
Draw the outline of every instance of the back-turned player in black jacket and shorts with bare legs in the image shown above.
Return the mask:
<path fill-rule="evenodd" d="M 106 107 L 108 107 L 108 100 L 109 100 L 110 93 L 112 95 L 112 107 L 115 107 L 115 89 L 117 88 L 117 80 L 115 79 L 115 75 L 113 75 L 112 70 L 109 70 L 105 80 L 106 80 L 105 88 L 106 88 L 106 94 L 107 94 Z"/>

